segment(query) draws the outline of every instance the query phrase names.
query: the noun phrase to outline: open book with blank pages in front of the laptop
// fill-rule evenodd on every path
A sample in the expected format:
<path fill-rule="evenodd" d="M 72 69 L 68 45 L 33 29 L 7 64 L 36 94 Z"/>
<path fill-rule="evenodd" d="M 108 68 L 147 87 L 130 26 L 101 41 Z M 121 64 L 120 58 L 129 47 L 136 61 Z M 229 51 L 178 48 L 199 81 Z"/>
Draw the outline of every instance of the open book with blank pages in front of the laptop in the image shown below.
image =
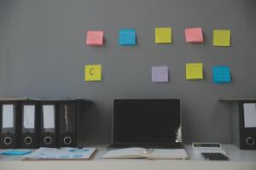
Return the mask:
<path fill-rule="evenodd" d="M 120 150 L 109 150 L 102 158 L 108 159 L 187 159 L 188 154 L 184 149 L 144 149 L 127 148 Z"/>

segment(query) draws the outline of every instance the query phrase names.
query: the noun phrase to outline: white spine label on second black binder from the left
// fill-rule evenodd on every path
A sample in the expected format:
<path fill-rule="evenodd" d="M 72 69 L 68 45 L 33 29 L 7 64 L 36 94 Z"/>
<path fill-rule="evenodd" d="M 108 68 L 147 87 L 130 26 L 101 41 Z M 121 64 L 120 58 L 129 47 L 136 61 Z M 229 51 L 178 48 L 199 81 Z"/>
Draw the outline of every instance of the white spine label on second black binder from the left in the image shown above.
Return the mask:
<path fill-rule="evenodd" d="M 23 126 L 25 128 L 35 127 L 35 105 L 24 105 Z"/>

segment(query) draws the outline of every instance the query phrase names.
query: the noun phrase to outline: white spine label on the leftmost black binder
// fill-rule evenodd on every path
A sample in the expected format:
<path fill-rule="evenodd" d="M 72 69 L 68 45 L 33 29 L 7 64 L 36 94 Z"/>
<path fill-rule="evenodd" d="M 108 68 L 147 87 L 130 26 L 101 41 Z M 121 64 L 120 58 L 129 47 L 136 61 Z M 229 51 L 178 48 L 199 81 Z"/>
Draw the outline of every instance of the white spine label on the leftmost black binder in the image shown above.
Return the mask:
<path fill-rule="evenodd" d="M 14 127 L 14 105 L 3 105 L 3 128 Z"/>

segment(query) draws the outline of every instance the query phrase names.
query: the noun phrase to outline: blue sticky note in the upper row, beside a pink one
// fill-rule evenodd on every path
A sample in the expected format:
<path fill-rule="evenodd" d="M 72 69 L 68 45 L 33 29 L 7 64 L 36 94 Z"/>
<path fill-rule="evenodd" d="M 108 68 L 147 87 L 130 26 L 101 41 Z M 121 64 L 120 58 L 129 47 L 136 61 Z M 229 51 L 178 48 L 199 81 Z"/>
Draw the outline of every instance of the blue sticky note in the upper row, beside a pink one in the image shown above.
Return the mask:
<path fill-rule="evenodd" d="M 136 45 L 136 30 L 121 29 L 119 31 L 119 45 Z"/>

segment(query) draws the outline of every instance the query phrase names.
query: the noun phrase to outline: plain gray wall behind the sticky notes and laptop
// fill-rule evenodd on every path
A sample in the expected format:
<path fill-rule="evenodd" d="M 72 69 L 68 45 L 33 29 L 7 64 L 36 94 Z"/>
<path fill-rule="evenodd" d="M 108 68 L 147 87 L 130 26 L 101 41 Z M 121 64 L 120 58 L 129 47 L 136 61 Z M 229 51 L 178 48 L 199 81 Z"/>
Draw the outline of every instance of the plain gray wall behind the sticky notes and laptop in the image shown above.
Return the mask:
<path fill-rule="evenodd" d="M 0 96 L 93 100 L 83 144 L 110 142 L 114 98 L 180 98 L 185 143 L 229 143 L 218 99 L 256 95 L 255 20 L 253 0 L 0 0 Z M 172 44 L 154 44 L 157 26 L 172 26 Z M 184 42 L 194 26 L 204 43 Z M 136 46 L 119 46 L 120 28 L 137 29 Z M 231 30 L 230 48 L 212 47 L 215 28 Z M 85 46 L 87 30 L 103 30 L 104 46 Z M 186 62 L 202 62 L 204 80 L 186 81 Z M 84 82 L 85 64 L 102 64 L 102 82 Z M 170 81 L 152 83 L 153 65 Z M 213 65 L 230 65 L 232 82 L 213 84 Z"/>

